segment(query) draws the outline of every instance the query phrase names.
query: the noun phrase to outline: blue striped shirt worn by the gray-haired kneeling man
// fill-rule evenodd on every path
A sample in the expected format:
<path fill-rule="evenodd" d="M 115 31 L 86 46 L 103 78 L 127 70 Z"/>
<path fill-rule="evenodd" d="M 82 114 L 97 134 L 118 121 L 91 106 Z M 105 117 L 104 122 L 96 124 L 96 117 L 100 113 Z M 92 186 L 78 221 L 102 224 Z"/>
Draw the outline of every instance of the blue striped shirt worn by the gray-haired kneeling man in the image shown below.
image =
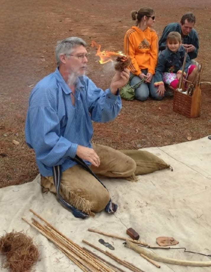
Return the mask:
<path fill-rule="evenodd" d="M 119 95 L 97 88 L 86 76 L 77 78 L 75 106 L 71 93 L 57 68 L 30 94 L 25 138 L 43 176 L 52 176 L 52 166 L 61 165 L 64 171 L 76 164 L 68 157 L 75 157 L 78 144 L 92 147 L 92 120 L 108 122 L 121 110 Z"/>

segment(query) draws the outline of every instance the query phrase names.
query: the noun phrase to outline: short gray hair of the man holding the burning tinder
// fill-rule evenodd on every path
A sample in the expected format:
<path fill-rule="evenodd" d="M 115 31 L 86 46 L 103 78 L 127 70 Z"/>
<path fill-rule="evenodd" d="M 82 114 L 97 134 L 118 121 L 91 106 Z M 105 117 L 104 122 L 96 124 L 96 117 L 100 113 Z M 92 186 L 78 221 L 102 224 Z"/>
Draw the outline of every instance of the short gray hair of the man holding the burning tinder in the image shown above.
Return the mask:
<path fill-rule="evenodd" d="M 86 47 L 87 44 L 82 38 L 78 37 L 69 37 L 62 41 L 57 42 L 56 46 L 56 64 L 59 66 L 60 64 L 60 55 L 61 54 L 69 54 L 73 51 L 73 49 L 77 46 L 84 46 Z"/>

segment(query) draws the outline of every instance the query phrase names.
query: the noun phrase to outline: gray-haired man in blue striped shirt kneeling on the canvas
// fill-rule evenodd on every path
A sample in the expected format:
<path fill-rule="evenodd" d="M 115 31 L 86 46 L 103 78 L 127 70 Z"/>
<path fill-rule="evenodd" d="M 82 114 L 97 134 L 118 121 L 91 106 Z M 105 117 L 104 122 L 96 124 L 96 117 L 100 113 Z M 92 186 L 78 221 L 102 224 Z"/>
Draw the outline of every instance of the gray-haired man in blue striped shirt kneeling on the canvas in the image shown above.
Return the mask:
<path fill-rule="evenodd" d="M 104 208 L 108 213 L 116 210 L 93 172 L 124 178 L 136 170 L 135 161 L 125 154 L 91 143 L 92 121 L 105 123 L 119 114 L 118 89 L 128 82 L 129 70 L 117 71 L 103 91 L 85 76 L 87 57 L 81 38 L 58 42 L 57 68 L 33 88 L 25 124 L 26 142 L 35 151 L 41 185 L 57 193 L 61 203 L 80 218 Z"/>

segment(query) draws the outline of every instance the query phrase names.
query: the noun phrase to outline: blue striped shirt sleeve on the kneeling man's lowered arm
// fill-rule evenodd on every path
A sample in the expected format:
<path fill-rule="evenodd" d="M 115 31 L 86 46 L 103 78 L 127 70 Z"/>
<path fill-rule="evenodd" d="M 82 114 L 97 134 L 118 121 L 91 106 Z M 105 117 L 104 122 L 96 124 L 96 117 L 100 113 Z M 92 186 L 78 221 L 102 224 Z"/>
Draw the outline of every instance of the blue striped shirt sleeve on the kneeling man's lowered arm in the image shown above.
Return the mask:
<path fill-rule="evenodd" d="M 26 123 L 28 133 L 33 132 L 29 145 L 35 150 L 36 160 L 52 167 L 61 165 L 68 156 L 75 157 L 78 145 L 59 136 L 59 118 L 51 107 L 30 108 Z"/>

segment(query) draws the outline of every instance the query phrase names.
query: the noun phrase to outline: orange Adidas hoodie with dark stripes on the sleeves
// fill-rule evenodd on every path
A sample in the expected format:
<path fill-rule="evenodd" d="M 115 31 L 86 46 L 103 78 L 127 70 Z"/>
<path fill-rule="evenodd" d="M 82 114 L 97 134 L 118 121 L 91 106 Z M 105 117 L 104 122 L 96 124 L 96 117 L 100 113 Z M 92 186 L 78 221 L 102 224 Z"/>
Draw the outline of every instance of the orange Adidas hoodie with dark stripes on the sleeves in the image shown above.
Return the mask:
<path fill-rule="evenodd" d="M 144 31 L 132 26 L 124 36 L 124 54 L 131 58 L 132 64 L 128 69 L 134 75 L 147 69 L 148 73 L 155 74 L 158 61 L 158 35 L 154 29 Z"/>

